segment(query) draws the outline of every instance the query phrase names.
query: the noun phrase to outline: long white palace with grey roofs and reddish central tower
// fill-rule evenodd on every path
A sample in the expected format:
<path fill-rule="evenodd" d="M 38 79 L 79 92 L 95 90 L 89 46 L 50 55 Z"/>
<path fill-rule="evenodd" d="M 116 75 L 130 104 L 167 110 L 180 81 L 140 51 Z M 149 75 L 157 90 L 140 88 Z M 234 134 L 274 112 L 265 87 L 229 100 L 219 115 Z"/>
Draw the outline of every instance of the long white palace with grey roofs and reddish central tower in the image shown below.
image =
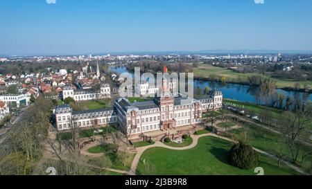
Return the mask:
<path fill-rule="evenodd" d="M 163 89 L 159 97 L 146 102 L 132 103 L 126 98 L 117 98 L 114 107 L 109 109 L 73 111 L 69 105 L 61 105 L 55 109 L 56 127 L 63 131 L 71 127 L 116 123 L 125 134 L 144 134 L 198 125 L 202 122 L 203 112 L 222 107 L 223 93 L 220 91 L 209 91 L 207 97 L 202 99 L 180 94 L 170 96 L 167 92 Z"/>

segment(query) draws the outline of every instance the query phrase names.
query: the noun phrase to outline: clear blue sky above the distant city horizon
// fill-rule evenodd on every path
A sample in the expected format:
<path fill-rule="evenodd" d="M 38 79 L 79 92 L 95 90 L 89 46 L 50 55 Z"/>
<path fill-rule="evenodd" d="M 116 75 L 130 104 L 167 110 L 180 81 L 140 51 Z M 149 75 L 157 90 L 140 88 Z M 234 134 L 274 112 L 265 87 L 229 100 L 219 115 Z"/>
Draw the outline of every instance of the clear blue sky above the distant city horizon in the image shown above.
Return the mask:
<path fill-rule="evenodd" d="M 310 0 L 1 0 L 0 55 L 312 50 Z"/>

